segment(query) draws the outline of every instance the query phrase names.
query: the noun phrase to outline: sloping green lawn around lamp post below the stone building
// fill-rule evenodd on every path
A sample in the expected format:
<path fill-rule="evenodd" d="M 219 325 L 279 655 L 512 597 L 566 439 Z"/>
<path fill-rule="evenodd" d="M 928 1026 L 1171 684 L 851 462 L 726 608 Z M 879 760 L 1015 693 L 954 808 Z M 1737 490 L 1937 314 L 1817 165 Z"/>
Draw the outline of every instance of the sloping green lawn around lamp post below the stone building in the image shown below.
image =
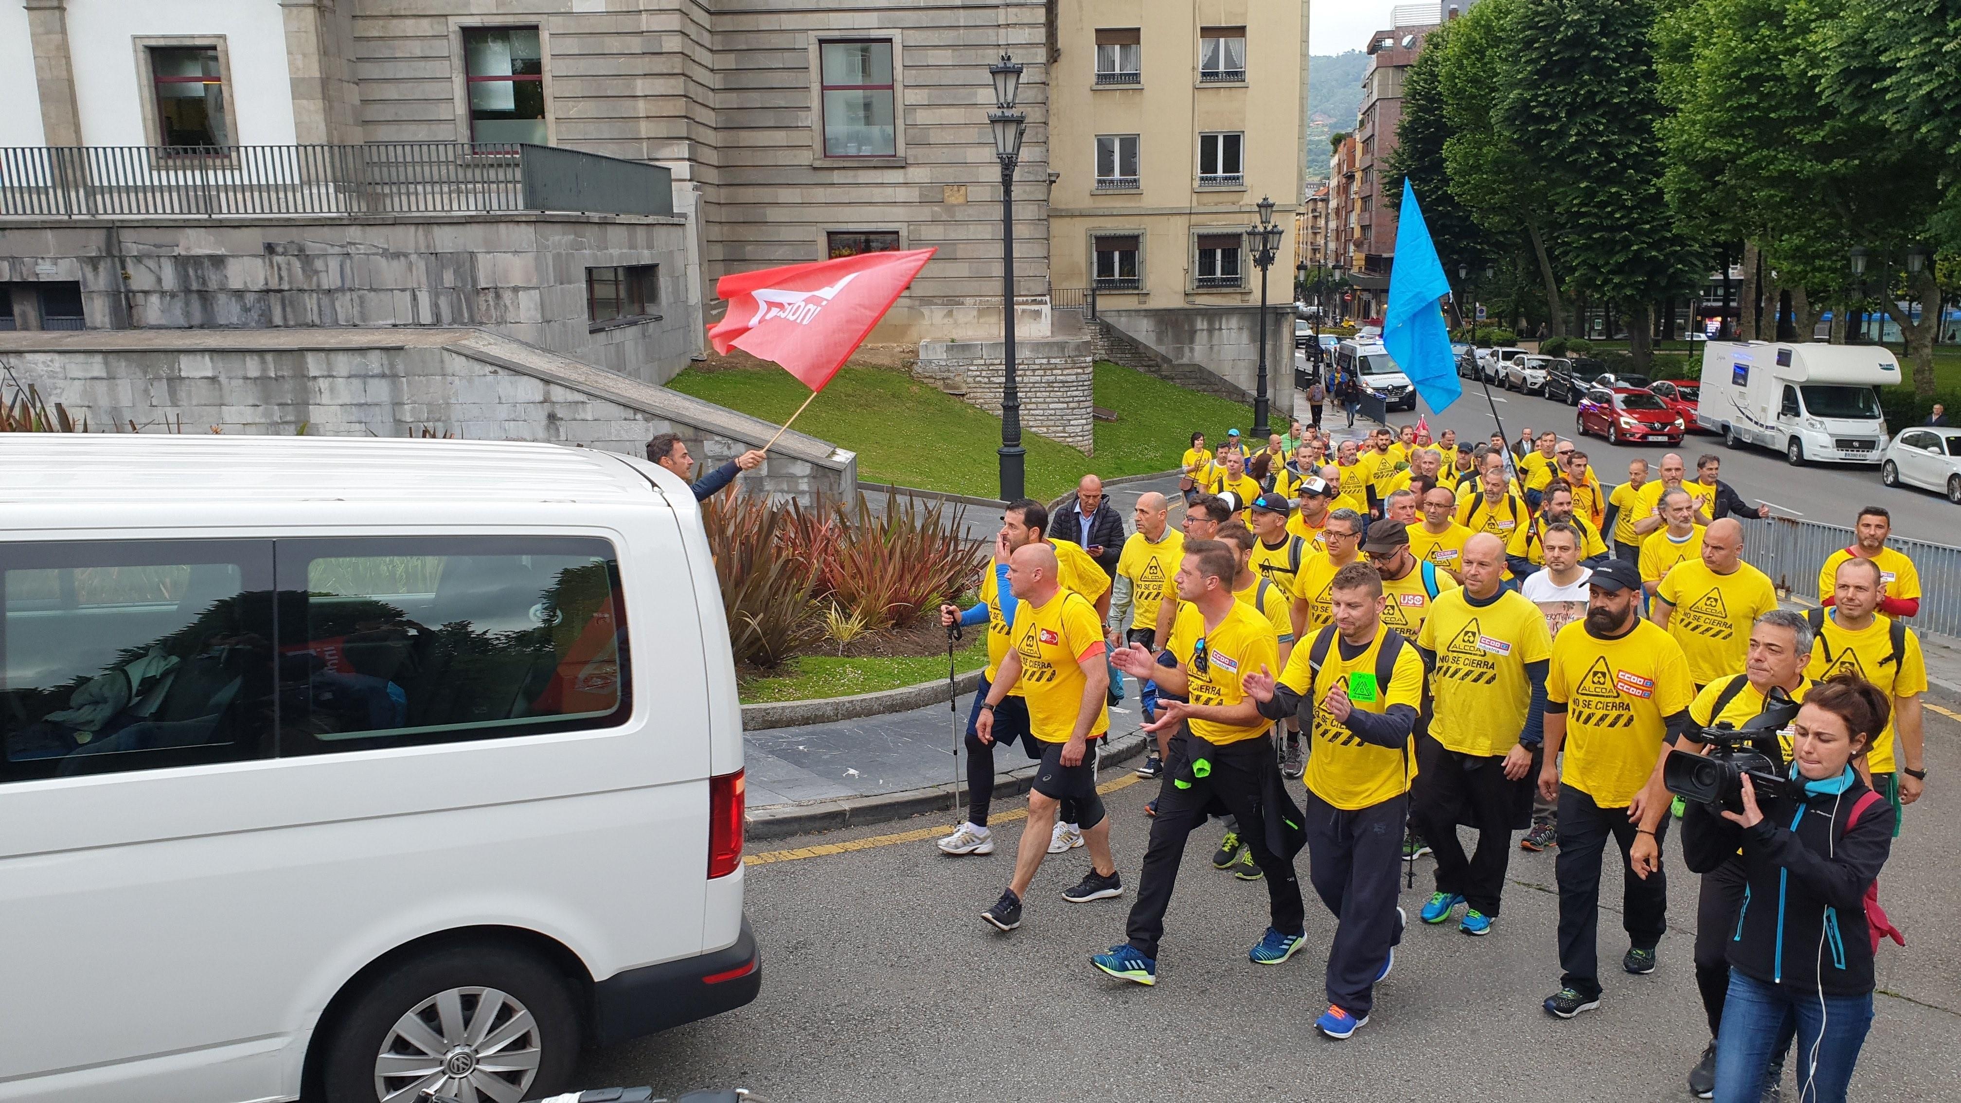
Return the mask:
<path fill-rule="evenodd" d="M 782 422 L 808 396 L 802 383 L 777 367 L 688 369 L 669 387 L 769 422 Z M 1022 434 L 1030 497 L 1069 493 L 1084 473 L 1110 479 L 1171 471 L 1192 430 L 1216 442 L 1228 428 L 1253 422 L 1249 406 L 1114 363 L 1096 365 L 1096 404 L 1116 410 L 1118 420 L 1096 422 L 1094 459 L 1065 444 Z M 994 453 L 1000 447 L 1000 418 L 902 371 L 841 369 L 796 428 L 855 451 L 859 479 L 867 483 L 986 499 L 1000 491 Z"/>

